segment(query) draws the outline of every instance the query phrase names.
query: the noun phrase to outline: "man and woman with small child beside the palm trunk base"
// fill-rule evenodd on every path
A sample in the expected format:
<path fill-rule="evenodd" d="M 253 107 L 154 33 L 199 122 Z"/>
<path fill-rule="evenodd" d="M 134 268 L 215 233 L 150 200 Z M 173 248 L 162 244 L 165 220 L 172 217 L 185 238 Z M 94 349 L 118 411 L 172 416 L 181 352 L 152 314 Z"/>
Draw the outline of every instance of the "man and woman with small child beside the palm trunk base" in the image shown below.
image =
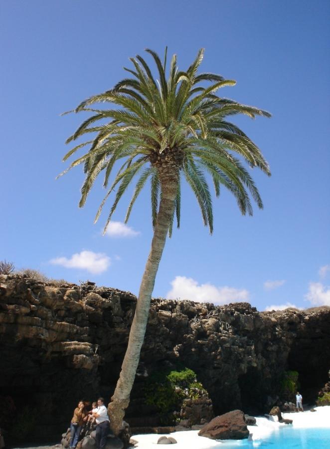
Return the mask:
<path fill-rule="evenodd" d="M 108 411 L 104 405 L 104 399 L 99 398 L 97 402 L 92 403 L 92 410 L 86 411 L 83 401 L 79 401 L 78 407 L 74 409 L 73 418 L 71 420 L 71 440 L 70 449 L 75 448 L 79 441 L 79 437 L 84 431 L 84 436 L 92 430 L 94 423 L 96 424 L 96 447 L 104 449 L 109 433 L 110 420 Z"/>

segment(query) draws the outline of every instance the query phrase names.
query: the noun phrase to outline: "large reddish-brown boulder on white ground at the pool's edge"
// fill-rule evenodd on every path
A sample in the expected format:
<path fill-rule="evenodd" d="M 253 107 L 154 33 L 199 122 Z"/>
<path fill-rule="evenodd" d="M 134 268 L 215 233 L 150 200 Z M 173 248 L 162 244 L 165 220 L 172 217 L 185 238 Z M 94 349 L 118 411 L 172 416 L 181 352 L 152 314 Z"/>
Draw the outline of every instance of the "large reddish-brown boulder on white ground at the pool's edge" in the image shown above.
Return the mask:
<path fill-rule="evenodd" d="M 249 437 L 244 413 L 234 410 L 213 418 L 198 432 L 211 440 L 243 440 Z"/>

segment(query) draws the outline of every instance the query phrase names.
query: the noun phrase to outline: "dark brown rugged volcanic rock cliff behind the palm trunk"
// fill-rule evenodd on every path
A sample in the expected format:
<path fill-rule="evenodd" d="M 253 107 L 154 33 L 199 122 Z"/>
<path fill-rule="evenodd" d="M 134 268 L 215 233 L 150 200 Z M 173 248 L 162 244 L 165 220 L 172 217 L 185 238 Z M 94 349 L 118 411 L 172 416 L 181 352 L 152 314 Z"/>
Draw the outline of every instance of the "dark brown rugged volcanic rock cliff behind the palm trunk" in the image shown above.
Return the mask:
<path fill-rule="evenodd" d="M 113 393 L 136 301 L 93 283 L 0 275 L 0 396 L 37 410 L 39 434 L 60 434 L 80 398 Z M 260 313 L 248 303 L 153 299 L 131 425 L 157 424 L 141 386 L 177 362 L 195 371 L 216 415 L 266 411 L 286 370 L 299 372 L 305 402 L 315 400 L 330 368 L 330 308 Z"/>

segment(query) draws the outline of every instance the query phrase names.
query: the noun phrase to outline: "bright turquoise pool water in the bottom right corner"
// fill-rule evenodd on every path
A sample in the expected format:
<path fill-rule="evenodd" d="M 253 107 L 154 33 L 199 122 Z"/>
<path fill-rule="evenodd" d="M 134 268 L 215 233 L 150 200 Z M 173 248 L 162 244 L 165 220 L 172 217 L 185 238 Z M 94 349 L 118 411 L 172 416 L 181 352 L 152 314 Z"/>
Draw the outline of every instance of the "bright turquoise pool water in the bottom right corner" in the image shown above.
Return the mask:
<path fill-rule="evenodd" d="M 262 440 L 245 440 L 234 444 L 226 442 L 219 445 L 220 448 L 330 449 L 330 427 L 327 429 L 283 428 L 274 431 Z"/>

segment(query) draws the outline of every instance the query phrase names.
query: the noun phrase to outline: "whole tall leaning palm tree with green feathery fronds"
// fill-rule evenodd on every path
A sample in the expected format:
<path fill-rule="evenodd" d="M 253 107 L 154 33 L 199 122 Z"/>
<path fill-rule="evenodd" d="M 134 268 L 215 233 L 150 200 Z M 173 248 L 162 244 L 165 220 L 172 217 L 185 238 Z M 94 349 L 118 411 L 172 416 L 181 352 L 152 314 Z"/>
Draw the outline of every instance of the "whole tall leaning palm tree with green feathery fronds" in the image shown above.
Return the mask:
<path fill-rule="evenodd" d="M 221 186 L 234 195 L 243 215 L 252 215 L 249 195 L 259 208 L 263 205 L 242 160 L 250 167 L 258 167 L 270 175 L 269 166 L 259 148 L 235 124 L 226 121 L 227 116 L 236 114 L 246 114 L 251 118 L 256 115 L 269 117 L 270 114 L 216 95 L 218 89 L 233 86 L 235 81 L 213 73 L 197 74 L 203 49 L 198 51 L 196 59 L 186 71 L 178 70 L 176 55 L 173 55 L 167 79 L 167 48 L 164 62 L 153 50 L 146 51 L 156 63 L 159 80 L 155 80 L 142 56 L 131 58 L 134 68 L 125 70 L 132 77 L 118 82 L 113 89 L 88 98 L 74 111 L 70 111 L 88 111 L 93 115 L 79 126 L 66 143 L 89 133 L 93 137 L 75 146 L 63 159 L 66 161 L 77 150 L 88 146 L 86 154 L 72 162 L 63 172 L 66 173 L 79 164 L 84 165 L 86 177 L 81 188 L 80 207 L 84 206 L 97 176 L 104 172 L 104 187 L 108 191 L 95 222 L 109 195 L 115 192 L 105 229 L 133 178 L 137 177 L 137 183 L 125 223 L 138 195 L 150 179 L 154 235 L 140 286 L 128 348 L 112 402 L 109 404 L 112 428 L 116 434 L 129 404 L 155 278 L 166 236 L 172 233 L 174 216 L 177 227 L 180 224 L 181 179 L 185 178 L 191 187 L 204 225 L 212 233 L 212 199 L 205 174 L 212 181 L 217 197 Z M 113 108 L 91 108 L 95 103 L 112 104 Z M 117 174 L 109 185 L 109 178 L 117 161 L 121 163 L 119 166 L 117 164 Z"/>

